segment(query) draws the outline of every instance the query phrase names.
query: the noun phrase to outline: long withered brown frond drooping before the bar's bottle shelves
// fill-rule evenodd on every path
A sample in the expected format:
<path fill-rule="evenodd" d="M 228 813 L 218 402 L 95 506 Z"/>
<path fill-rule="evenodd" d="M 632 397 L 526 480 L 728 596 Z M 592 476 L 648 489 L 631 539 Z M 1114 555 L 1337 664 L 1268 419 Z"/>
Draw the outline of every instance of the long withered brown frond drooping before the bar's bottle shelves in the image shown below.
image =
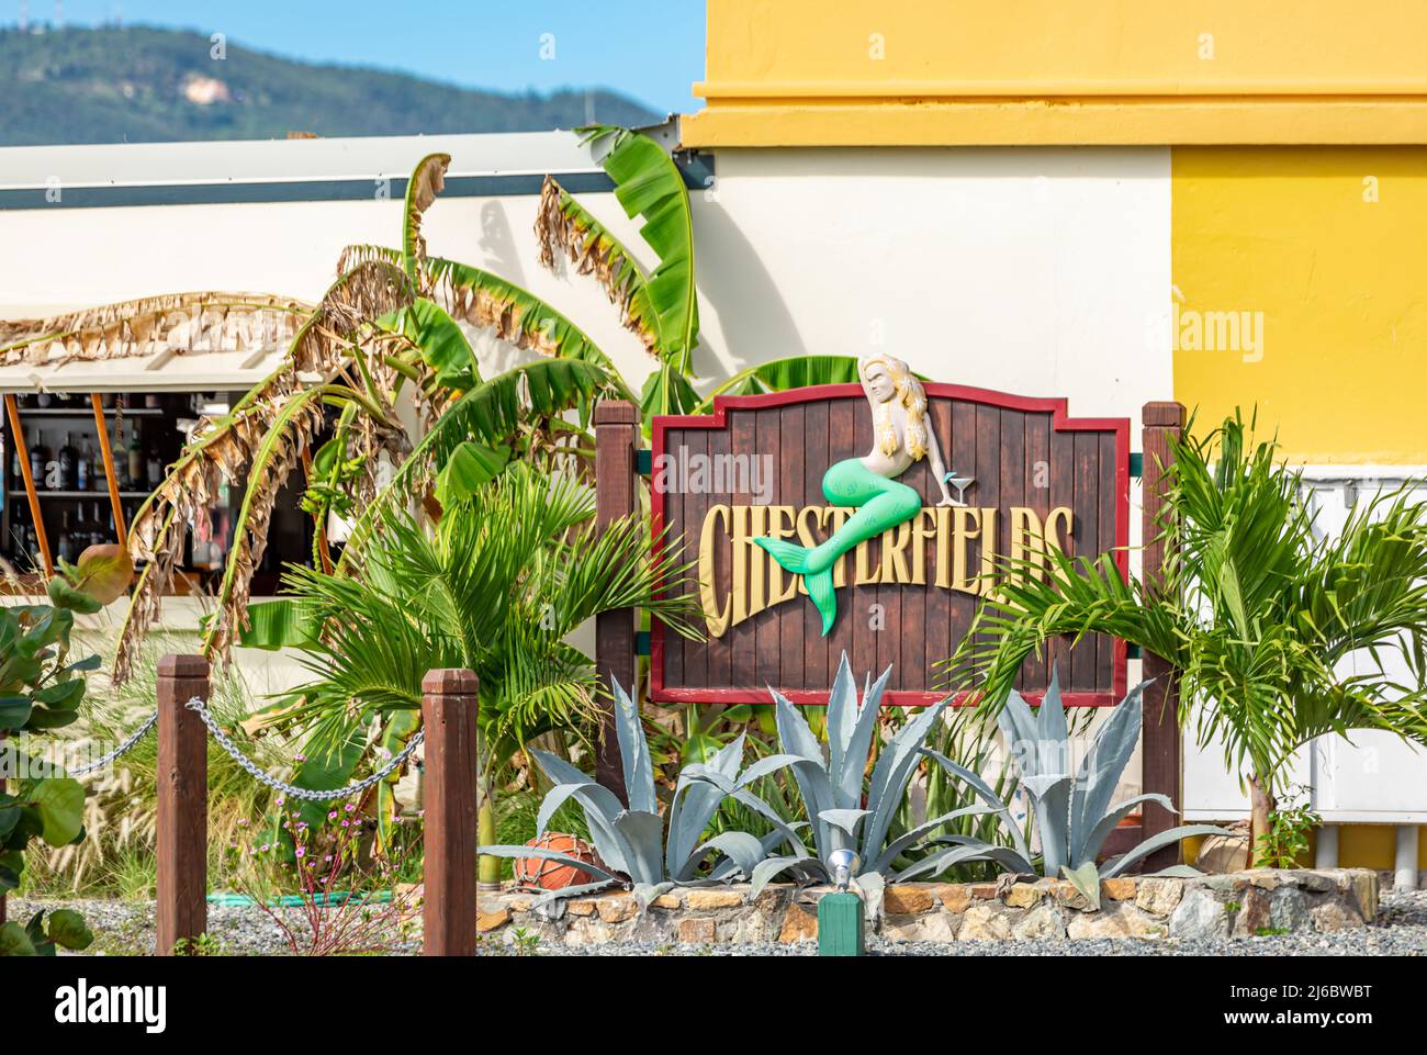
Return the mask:
<path fill-rule="evenodd" d="M 227 658 L 233 627 L 245 620 L 248 584 L 263 560 L 273 503 L 321 425 L 321 400 L 370 320 L 411 300 L 401 270 L 384 263 L 358 264 L 344 273 L 293 338 L 283 364 L 244 395 L 224 417 L 204 420 L 168 475 L 140 507 L 130 528 L 130 554 L 148 561 L 138 577 L 120 628 L 114 684 L 123 684 L 144 632 L 158 618 L 163 594 L 173 582 L 183 552 L 184 530 L 208 505 L 220 483 L 247 477 L 245 497 L 234 525 L 234 548 L 224 570 L 217 611 L 204 638 L 208 658 Z M 347 391 L 362 398 L 358 391 Z M 385 408 L 364 400 L 370 414 L 385 420 Z M 380 424 L 380 423 L 378 423 Z"/>

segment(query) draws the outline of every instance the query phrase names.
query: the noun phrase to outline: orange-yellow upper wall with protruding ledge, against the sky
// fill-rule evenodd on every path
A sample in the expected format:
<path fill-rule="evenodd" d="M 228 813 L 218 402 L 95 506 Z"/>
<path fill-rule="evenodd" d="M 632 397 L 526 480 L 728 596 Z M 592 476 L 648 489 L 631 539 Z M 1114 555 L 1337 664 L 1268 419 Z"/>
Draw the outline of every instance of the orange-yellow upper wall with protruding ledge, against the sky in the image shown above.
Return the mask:
<path fill-rule="evenodd" d="M 708 0 L 691 147 L 1427 143 L 1427 4 Z"/>

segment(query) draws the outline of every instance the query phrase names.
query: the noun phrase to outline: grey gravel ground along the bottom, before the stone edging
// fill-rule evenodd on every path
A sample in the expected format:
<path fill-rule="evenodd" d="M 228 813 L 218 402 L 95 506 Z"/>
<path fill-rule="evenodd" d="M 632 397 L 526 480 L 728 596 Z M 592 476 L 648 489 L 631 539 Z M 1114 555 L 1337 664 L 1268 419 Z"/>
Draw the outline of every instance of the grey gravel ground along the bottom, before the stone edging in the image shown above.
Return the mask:
<path fill-rule="evenodd" d="M 144 901 L 74 901 L 27 902 L 11 898 L 11 919 L 26 919 L 39 908 L 74 908 L 96 934 L 90 952 L 98 955 L 150 955 L 154 951 L 154 905 Z M 291 925 L 305 931 L 297 909 L 284 909 Z M 420 921 L 417 924 L 420 929 Z M 288 952 L 281 929 L 258 908 L 208 907 L 208 935 L 221 942 L 220 951 L 237 955 L 273 955 Z M 888 942 L 872 938 L 868 951 L 879 956 L 1424 956 L 1427 955 L 1427 891 L 1383 894 L 1377 924 L 1341 934 L 1279 935 L 1270 938 L 1234 938 L 1232 941 L 1104 939 L 1075 942 L 999 941 L 999 942 Z M 391 952 L 420 951 L 420 938 L 410 937 L 392 945 Z M 811 956 L 816 948 L 801 945 L 705 945 L 681 948 L 638 942 L 616 942 L 585 948 L 567 948 L 541 942 L 525 949 L 541 956 Z M 481 942 L 482 955 L 515 955 L 501 938 Z"/>

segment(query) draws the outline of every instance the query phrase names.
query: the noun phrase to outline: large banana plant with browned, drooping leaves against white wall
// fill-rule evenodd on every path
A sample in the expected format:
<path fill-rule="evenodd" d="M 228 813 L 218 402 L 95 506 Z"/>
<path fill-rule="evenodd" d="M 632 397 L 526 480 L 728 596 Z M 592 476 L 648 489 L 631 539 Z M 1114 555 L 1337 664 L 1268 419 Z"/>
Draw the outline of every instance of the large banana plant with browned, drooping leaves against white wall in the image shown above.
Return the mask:
<path fill-rule="evenodd" d="M 351 246 L 317 306 L 271 294 L 174 294 L 91 308 L 40 323 L 0 324 L 0 361 L 43 358 L 54 343 L 71 358 L 151 354 L 161 344 L 243 325 L 250 316 L 291 335 L 277 370 L 218 418 L 201 421 L 164 483 L 138 510 L 131 552 L 147 562 L 120 630 L 114 680 L 131 671 L 147 628 L 158 618 L 183 552 L 186 525 L 221 478 L 244 480 L 215 614 L 203 651 L 225 660 L 248 622 L 248 585 L 267 541 L 278 491 L 305 475 L 304 508 L 314 518 L 314 564 L 330 567 L 325 523 L 352 513 L 345 570 L 388 504 L 437 490 L 441 473 L 489 480 L 509 461 L 532 461 L 592 475 L 592 408 L 601 398 L 639 398 L 645 421 L 695 408 L 691 377 L 698 345 L 694 221 L 678 166 L 654 140 L 625 128 L 585 130 L 629 217 L 658 257 L 646 270 L 555 180 L 542 193 L 537 238 L 541 261 L 557 251 L 579 274 L 595 276 L 621 320 L 655 361 L 642 395 L 609 355 L 555 307 L 502 277 L 428 257 L 422 223 L 444 187 L 447 154 L 421 158 L 407 184 L 397 248 Z M 176 320 L 178 334 L 176 337 Z M 481 375 L 461 324 L 539 354 L 492 378 Z M 728 391 L 855 380 L 852 357 L 793 358 L 743 371 Z M 421 424 L 402 424 L 398 405 L 415 398 Z M 706 405 L 698 407 L 706 410 Z M 331 438 L 314 451 L 317 437 Z M 378 464 L 395 471 L 378 485 Z"/>

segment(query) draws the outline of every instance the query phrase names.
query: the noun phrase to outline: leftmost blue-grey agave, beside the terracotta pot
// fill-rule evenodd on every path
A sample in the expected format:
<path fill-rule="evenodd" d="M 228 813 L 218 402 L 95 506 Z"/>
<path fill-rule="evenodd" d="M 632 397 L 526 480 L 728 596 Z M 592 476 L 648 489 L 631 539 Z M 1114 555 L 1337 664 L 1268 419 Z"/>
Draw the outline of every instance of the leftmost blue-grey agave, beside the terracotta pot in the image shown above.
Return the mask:
<path fill-rule="evenodd" d="M 768 804 L 746 789 L 728 794 L 733 794 L 739 802 L 768 819 L 773 831 L 763 838 L 742 831 L 726 831 L 701 842 L 714 811 L 725 798 L 723 785 L 756 779 L 756 774 L 738 772 L 743 754 L 742 737 L 718 751 L 708 764 L 691 765 L 679 777 L 666 817 L 659 817 L 654 764 L 639 722 L 639 711 L 618 681 L 614 682 L 614 701 L 628 808 L 614 791 L 599 785 L 594 777 L 579 772 L 564 758 L 531 748 L 535 762 L 555 785 L 541 802 L 535 821 L 537 837 L 545 834 L 545 825 L 555 811 L 574 798 L 585 814 L 589 837 L 599 857 L 598 864 L 542 847 L 479 847 L 479 852 L 489 857 L 538 857 L 598 877 L 595 882 L 549 891 L 537 904 L 626 885 L 641 904 L 646 905 L 674 887 L 711 885 L 749 877 L 779 842 L 799 845 L 796 828 L 782 821 Z M 755 764 L 749 769 L 759 765 L 762 764 Z M 708 777 L 716 779 L 706 779 Z M 708 872 L 701 875 L 699 868 L 711 859 Z"/>

